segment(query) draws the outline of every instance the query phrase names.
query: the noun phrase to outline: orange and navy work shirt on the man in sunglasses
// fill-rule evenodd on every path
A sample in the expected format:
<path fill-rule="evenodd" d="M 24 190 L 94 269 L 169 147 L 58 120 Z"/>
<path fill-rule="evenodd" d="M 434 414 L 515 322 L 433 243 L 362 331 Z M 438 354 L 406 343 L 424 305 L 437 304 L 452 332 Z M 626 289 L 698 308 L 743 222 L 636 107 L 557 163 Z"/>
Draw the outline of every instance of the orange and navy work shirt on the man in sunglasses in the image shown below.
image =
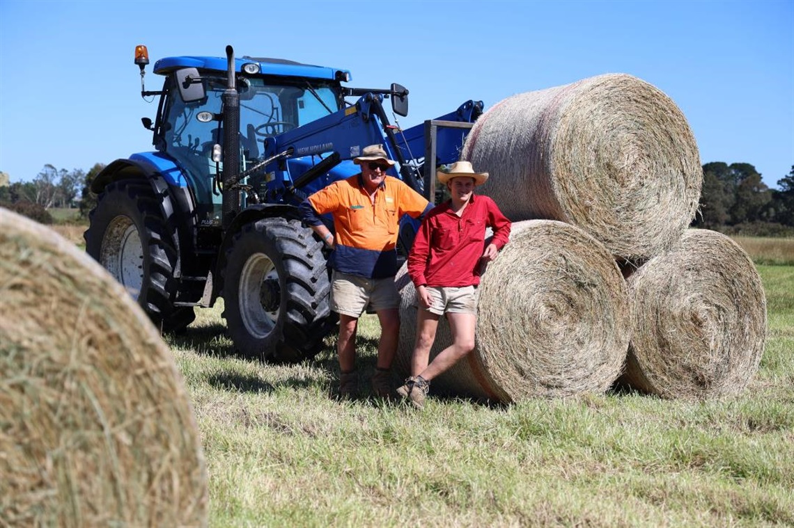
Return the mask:
<path fill-rule="evenodd" d="M 334 250 L 329 266 L 344 274 L 368 278 L 397 274 L 397 235 L 403 215 L 418 218 L 432 209 L 421 194 L 387 176 L 370 201 L 360 174 L 333 182 L 301 204 L 303 220 L 320 225 L 320 215 L 333 216 Z"/>

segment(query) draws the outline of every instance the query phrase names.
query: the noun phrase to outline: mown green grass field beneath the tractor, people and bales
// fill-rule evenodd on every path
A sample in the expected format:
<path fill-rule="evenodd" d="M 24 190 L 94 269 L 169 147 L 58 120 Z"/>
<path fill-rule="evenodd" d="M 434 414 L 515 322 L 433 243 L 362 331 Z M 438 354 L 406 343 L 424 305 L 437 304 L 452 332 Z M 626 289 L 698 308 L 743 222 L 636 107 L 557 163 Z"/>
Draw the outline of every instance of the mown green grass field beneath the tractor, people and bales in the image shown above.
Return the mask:
<path fill-rule="evenodd" d="M 740 397 L 610 392 L 424 411 L 330 397 L 313 362 L 235 358 L 221 306 L 169 338 L 210 476 L 211 526 L 794 526 L 794 267 L 758 266 L 761 369 Z M 362 386 L 377 322 L 362 319 Z"/>

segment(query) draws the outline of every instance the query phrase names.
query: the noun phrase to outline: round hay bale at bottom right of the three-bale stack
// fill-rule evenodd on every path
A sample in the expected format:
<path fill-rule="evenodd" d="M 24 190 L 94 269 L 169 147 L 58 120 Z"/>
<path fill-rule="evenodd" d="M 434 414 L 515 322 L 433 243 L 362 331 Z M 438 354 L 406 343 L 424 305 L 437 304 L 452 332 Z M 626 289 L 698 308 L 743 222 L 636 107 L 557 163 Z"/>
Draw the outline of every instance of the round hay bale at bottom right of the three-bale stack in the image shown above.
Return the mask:
<path fill-rule="evenodd" d="M 761 277 L 726 235 L 690 229 L 628 278 L 634 327 L 620 381 L 665 398 L 742 392 L 766 340 Z"/>

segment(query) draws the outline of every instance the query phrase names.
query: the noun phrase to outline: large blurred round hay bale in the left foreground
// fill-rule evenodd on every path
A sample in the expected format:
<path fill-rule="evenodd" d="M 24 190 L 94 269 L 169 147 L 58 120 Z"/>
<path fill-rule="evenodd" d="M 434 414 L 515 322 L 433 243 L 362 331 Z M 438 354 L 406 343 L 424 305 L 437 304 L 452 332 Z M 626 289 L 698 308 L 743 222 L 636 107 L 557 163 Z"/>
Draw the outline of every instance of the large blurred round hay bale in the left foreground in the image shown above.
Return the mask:
<path fill-rule="evenodd" d="M 170 350 L 55 231 L 0 209 L 0 524 L 206 526 Z"/>

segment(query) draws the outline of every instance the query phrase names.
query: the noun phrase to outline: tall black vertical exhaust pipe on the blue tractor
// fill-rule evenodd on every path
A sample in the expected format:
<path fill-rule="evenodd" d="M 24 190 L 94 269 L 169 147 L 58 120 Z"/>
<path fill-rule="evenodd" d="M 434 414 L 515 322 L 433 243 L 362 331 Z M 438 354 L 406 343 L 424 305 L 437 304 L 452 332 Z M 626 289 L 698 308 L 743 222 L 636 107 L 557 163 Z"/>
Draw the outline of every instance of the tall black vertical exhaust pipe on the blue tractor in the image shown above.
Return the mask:
<path fill-rule="evenodd" d="M 226 46 L 228 80 L 223 101 L 223 205 L 222 223 L 226 231 L 240 212 L 240 190 L 235 185 L 240 173 L 240 95 L 235 86 L 234 49 Z"/>

